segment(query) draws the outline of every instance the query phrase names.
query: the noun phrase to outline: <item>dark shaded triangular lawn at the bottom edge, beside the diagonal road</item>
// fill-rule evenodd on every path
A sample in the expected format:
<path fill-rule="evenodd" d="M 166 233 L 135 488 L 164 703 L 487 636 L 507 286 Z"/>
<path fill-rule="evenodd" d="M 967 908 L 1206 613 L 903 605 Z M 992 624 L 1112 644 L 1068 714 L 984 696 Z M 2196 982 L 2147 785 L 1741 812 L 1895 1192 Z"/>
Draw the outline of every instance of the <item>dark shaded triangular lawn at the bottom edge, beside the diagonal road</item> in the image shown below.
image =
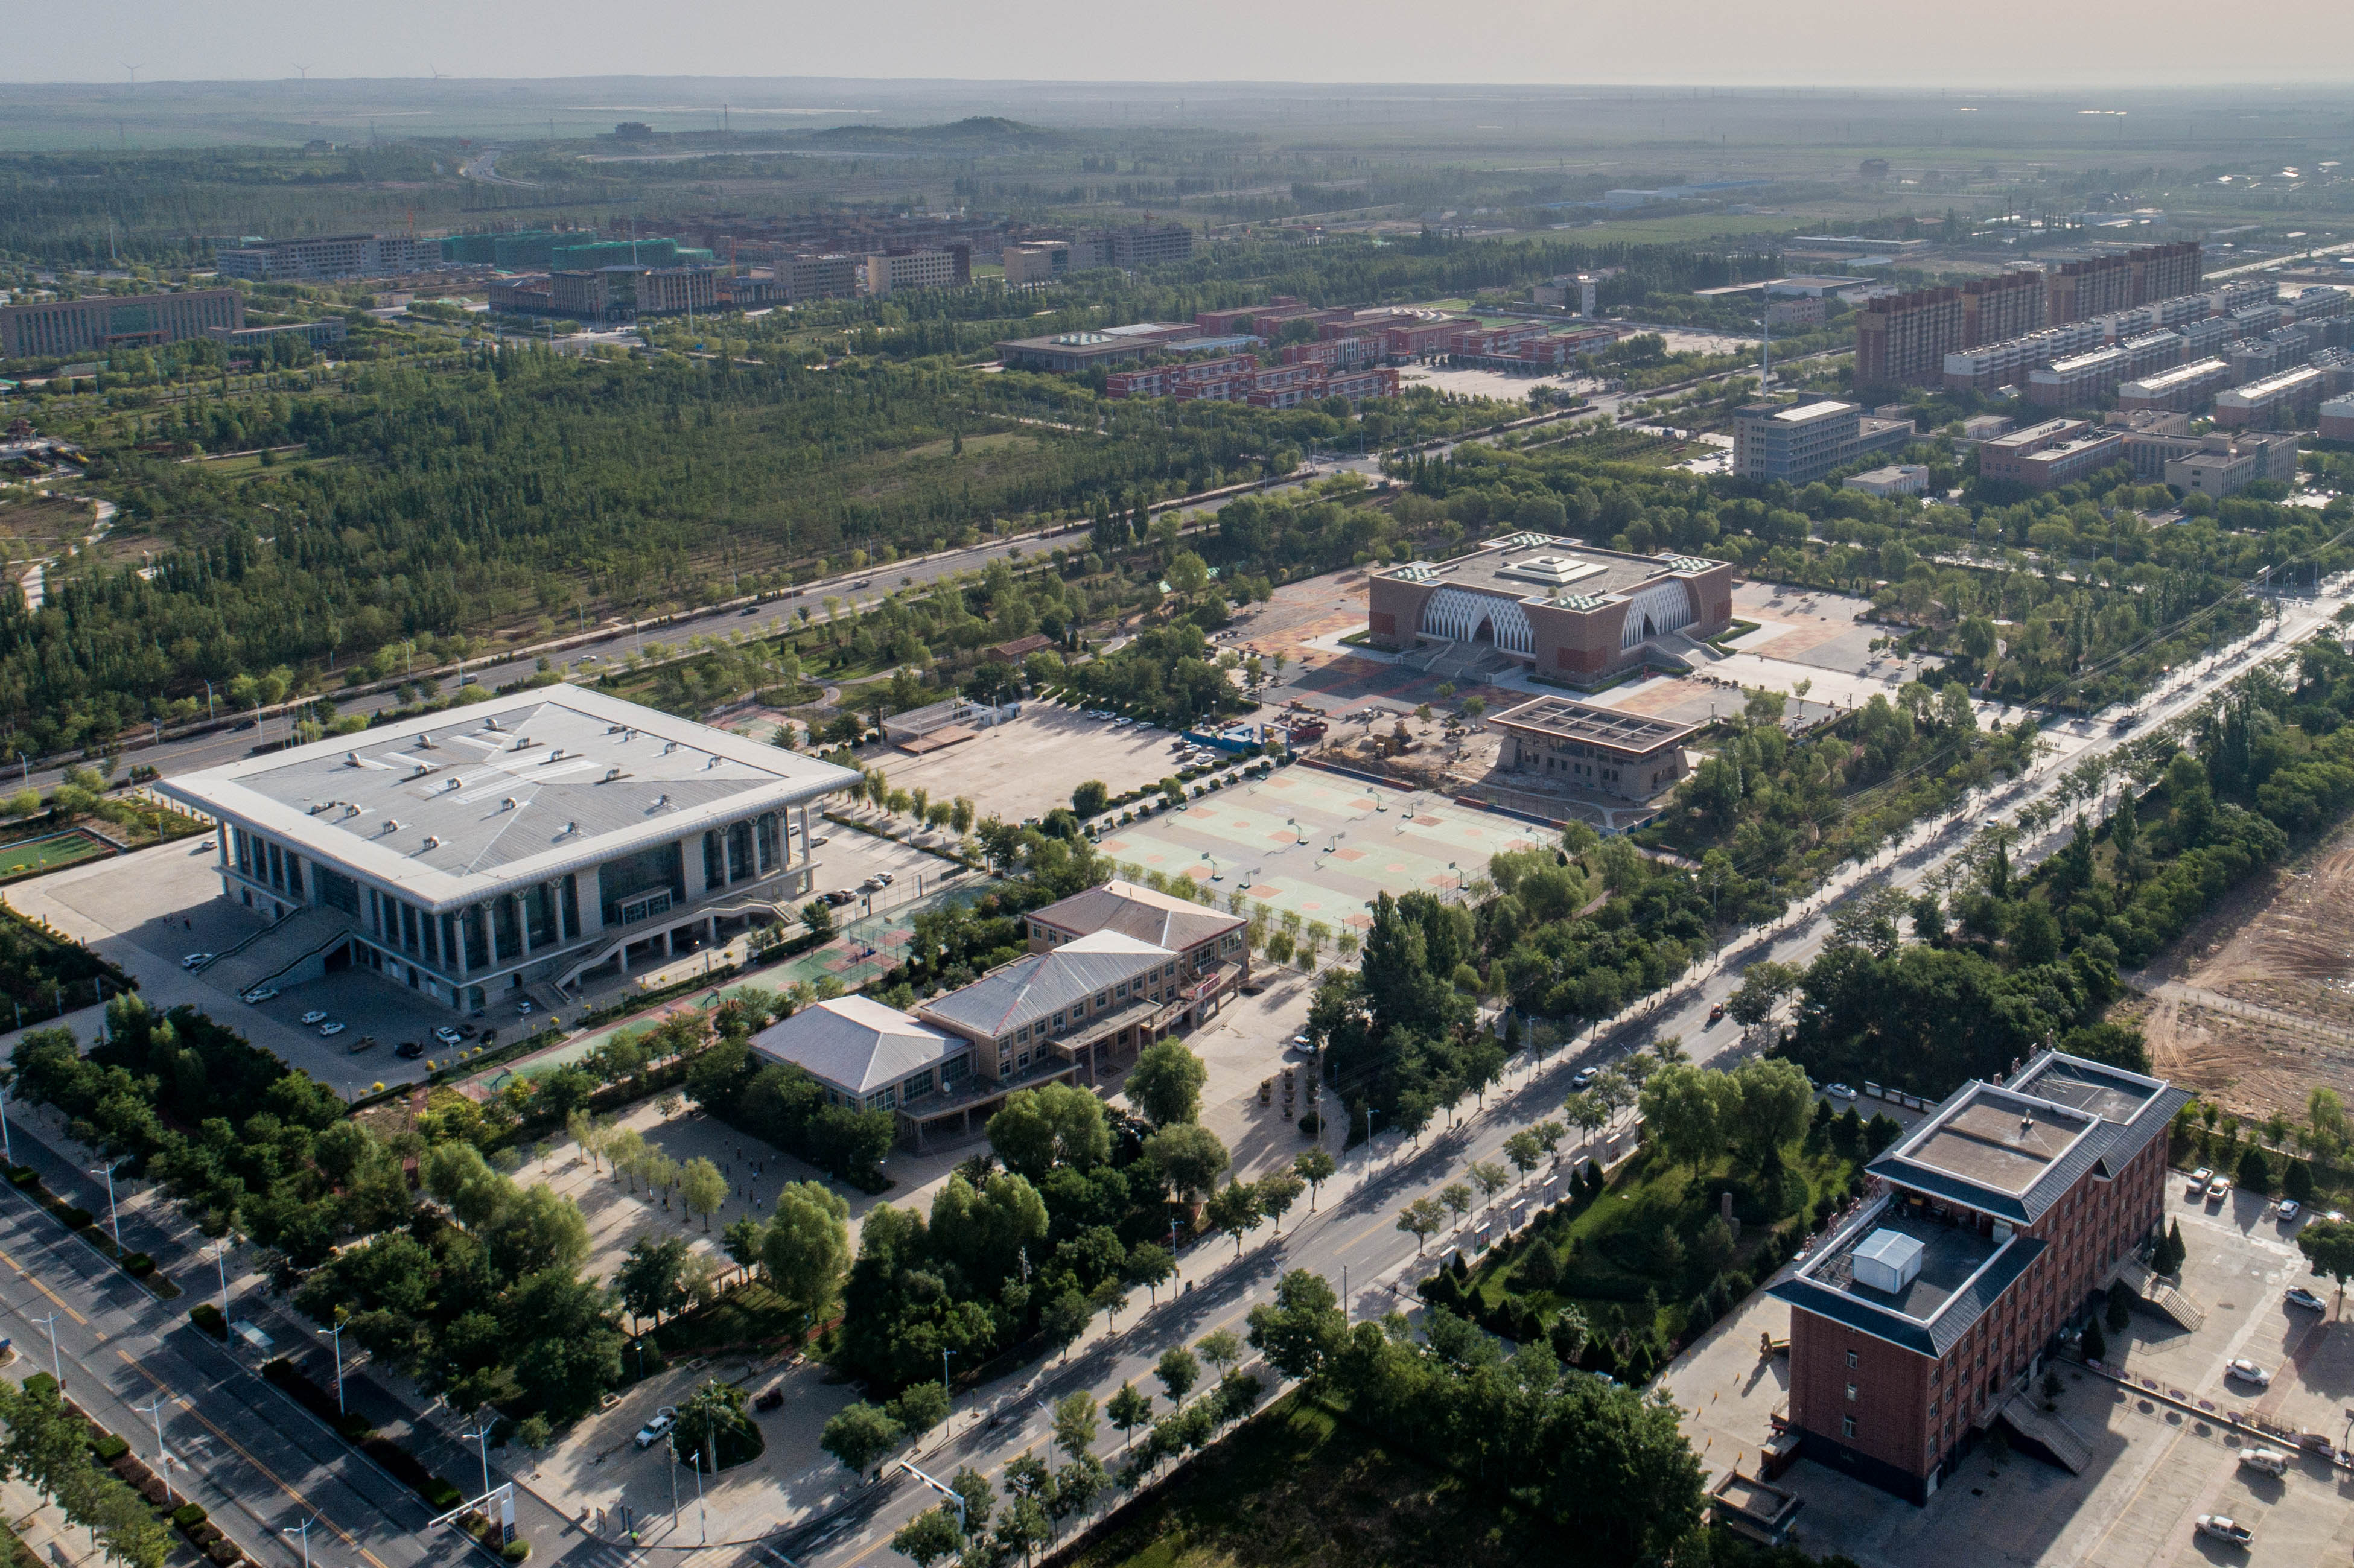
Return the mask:
<path fill-rule="evenodd" d="M 1278 1398 L 1055 1568 L 1389 1568 L 1577 1561 L 1504 1497 Z"/>

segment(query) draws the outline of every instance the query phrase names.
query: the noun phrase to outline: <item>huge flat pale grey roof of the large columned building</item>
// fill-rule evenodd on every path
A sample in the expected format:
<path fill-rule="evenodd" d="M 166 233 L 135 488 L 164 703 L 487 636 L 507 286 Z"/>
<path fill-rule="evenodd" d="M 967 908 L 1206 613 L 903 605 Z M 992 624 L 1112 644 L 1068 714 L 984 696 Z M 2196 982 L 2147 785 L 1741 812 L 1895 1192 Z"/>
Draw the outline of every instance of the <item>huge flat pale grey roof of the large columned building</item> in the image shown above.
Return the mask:
<path fill-rule="evenodd" d="M 158 789 L 450 909 L 857 782 L 833 763 L 556 685 Z"/>

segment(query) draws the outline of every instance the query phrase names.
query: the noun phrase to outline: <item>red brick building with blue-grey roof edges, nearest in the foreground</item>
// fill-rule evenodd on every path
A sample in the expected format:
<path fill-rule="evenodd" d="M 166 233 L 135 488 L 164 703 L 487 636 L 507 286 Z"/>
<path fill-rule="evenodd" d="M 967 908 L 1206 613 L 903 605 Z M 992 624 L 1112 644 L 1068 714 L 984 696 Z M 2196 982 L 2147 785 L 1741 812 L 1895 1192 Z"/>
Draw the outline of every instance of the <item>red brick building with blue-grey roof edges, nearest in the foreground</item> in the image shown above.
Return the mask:
<path fill-rule="evenodd" d="M 1966 1083 L 1871 1161 L 1878 1196 L 1773 1288 L 1801 1453 L 1928 1502 L 2159 1229 L 2166 1123 L 2187 1099 L 2048 1050 L 2008 1085 Z"/>

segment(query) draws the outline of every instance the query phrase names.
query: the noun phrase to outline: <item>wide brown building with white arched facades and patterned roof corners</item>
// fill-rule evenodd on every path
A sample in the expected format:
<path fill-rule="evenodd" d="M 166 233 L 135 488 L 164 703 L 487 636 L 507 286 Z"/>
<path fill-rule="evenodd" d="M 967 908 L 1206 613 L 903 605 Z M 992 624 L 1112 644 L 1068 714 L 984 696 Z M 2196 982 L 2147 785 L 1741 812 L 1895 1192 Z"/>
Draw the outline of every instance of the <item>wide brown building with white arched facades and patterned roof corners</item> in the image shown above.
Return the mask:
<path fill-rule="evenodd" d="M 1382 647 L 1450 643 L 1547 676 L 1643 664 L 1643 643 L 1709 638 L 1733 624 L 1733 567 L 1697 556 L 1627 556 L 1549 534 L 1504 534 L 1455 560 L 1372 574 L 1365 631 Z"/>

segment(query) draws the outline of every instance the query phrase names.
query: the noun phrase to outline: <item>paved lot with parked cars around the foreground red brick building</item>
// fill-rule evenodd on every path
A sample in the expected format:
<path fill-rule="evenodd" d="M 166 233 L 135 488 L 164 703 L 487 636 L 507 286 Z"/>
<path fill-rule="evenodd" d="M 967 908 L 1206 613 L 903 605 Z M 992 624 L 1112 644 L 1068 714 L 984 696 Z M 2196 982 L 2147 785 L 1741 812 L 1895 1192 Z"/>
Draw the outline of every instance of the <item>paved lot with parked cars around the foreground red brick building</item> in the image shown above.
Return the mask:
<path fill-rule="evenodd" d="M 2123 1335 L 2109 1335 L 2109 1363 L 2123 1382 L 2062 1366 L 2060 1417 L 2093 1448 L 2086 1474 L 2022 1455 L 1963 1460 L 1928 1507 L 1914 1507 L 1810 1460 L 1777 1486 L 1806 1500 L 1798 1544 L 1838 1552 L 1864 1568 L 1949 1568 L 1954 1542 L 1973 1563 L 2321 1563 L 2354 1554 L 2354 1476 L 2298 1455 L 2274 1479 L 2239 1462 L 2253 1439 L 2227 1413 L 2253 1413 L 2288 1429 L 2340 1441 L 2354 1401 L 2354 1333 L 2290 1307 L 2283 1293 L 2309 1285 L 2323 1300 L 2281 1224 L 2260 1196 L 2208 1205 L 2168 1187 L 2168 1220 L 2180 1220 L 2189 1260 L 2185 1295 L 2206 1314 L 2196 1330 L 2147 1307 Z M 1664 1377 L 1683 1429 L 1714 1481 L 1728 1469 L 1756 1474 L 1768 1417 L 1787 1408 L 1789 1363 L 1758 1354 L 1758 1335 L 1784 1340 L 1789 1307 L 1758 1290 L 1709 1330 Z M 2227 1377 L 2232 1358 L 2272 1373 L 2269 1389 Z M 2196 1535 L 2199 1514 L 2227 1514 L 2255 1530 L 2248 1549 Z"/>

